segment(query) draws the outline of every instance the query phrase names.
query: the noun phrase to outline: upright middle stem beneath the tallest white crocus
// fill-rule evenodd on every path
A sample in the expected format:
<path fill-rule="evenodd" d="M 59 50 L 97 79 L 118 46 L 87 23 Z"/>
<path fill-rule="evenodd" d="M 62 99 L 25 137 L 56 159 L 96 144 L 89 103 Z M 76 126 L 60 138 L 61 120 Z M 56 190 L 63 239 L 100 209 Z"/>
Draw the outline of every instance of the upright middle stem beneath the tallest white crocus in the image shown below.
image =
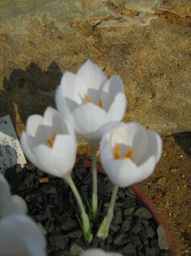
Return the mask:
<path fill-rule="evenodd" d="M 92 209 L 93 219 L 97 219 L 98 212 L 98 195 L 97 195 L 97 162 L 96 162 L 97 143 L 91 145 L 92 174 L 93 174 L 93 193 L 92 193 Z"/>

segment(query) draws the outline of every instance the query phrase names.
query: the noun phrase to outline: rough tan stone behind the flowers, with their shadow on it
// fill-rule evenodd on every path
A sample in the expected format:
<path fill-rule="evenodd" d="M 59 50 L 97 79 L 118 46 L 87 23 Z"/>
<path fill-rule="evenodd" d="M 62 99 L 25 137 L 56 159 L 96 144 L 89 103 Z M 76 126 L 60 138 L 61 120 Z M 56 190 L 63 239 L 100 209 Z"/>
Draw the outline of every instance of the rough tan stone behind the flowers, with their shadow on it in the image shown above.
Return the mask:
<path fill-rule="evenodd" d="M 0 116 L 20 134 L 28 115 L 55 106 L 61 74 L 91 59 L 121 76 L 125 121 L 187 131 L 190 26 L 190 0 L 1 0 Z"/>

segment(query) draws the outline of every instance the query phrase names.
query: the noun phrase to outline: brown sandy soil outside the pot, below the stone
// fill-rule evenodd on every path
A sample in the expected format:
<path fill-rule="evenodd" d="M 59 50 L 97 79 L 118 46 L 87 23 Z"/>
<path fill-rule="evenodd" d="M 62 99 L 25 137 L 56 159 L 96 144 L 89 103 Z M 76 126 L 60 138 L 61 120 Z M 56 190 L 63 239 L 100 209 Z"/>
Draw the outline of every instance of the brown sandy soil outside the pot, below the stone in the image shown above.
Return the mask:
<path fill-rule="evenodd" d="M 84 140 L 78 153 L 90 156 Z M 163 137 L 163 155 L 154 174 L 138 186 L 166 221 L 177 256 L 191 255 L 191 132 Z"/>

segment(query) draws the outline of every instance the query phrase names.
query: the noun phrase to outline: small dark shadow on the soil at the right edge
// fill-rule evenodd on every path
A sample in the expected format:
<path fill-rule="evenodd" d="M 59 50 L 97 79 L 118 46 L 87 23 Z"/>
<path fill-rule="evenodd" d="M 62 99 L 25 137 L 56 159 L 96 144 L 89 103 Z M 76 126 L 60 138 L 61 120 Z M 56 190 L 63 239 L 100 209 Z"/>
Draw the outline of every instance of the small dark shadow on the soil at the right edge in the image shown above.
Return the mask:
<path fill-rule="evenodd" d="M 175 142 L 191 156 L 191 132 L 181 132 L 172 134 Z"/>

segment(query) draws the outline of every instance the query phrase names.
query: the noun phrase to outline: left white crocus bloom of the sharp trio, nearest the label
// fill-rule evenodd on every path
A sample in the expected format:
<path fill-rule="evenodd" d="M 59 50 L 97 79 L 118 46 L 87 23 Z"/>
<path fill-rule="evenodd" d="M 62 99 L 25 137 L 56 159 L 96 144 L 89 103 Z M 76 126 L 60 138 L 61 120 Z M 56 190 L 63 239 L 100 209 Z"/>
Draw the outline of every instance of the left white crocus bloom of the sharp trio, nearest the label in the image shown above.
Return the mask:
<path fill-rule="evenodd" d="M 71 174 L 77 147 L 74 130 L 53 108 L 44 116 L 28 117 L 21 145 L 27 158 L 46 173 L 60 178 Z"/>

